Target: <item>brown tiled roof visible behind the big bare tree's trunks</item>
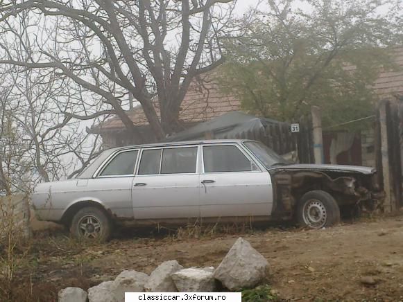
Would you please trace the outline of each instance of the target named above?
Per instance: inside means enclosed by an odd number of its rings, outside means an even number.
[[[157,101],[154,102],[157,115],[160,116]],[[225,94],[218,89],[218,83],[212,74],[206,74],[195,78],[180,105],[180,123],[195,123],[208,121],[216,116],[221,116],[227,112],[239,110],[241,102]],[[139,105],[127,112],[129,118],[135,125],[148,125],[148,121],[142,107]],[[119,117],[109,118],[107,121],[92,128],[94,132],[103,130],[117,130],[124,125]]]

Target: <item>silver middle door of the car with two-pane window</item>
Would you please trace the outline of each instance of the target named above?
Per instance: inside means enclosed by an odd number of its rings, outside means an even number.
[[[132,186],[135,219],[199,216],[198,145],[142,150]]]

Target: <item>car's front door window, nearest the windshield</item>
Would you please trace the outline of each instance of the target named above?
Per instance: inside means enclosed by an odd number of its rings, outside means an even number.
[[[205,172],[247,172],[256,166],[235,145],[203,146]]]

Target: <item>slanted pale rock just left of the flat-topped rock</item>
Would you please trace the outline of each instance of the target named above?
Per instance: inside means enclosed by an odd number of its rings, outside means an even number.
[[[151,273],[146,285],[144,285],[144,290],[146,292],[178,292],[171,274],[178,272],[180,269],[183,269],[183,267],[176,260],[161,263]]]

